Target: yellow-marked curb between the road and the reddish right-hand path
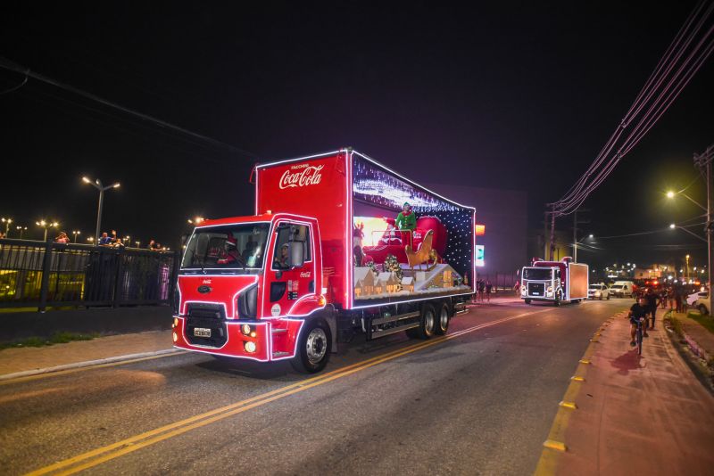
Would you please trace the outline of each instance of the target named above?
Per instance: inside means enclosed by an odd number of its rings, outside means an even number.
[[[570,377],[570,384],[565,390],[563,399],[558,404],[558,413],[552,421],[551,431],[548,432],[548,438],[543,443],[541,457],[538,459],[538,464],[535,466],[535,476],[545,476],[555,474],[560,462],[560,455],[568,451],[568,445],[565,441],[565,432],[568,429],[570,415],[577,411],[577,395],[585,383],[587,377],[587,369],[592,365],[593,354],[595,353],[596,344],[600,341],[601,332],[610,325],[612,321],[618,317],[627,314],[627,311],[619,312],[610,316],[604,321],[594,332],[590,343],[585,349],[585,354],[580,357],[577,363],[575,374]]]

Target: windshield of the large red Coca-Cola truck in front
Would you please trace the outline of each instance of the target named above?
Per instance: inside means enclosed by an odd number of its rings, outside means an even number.
[[[206,226],[188,242],[182,268],[262,268],[270,224]]]

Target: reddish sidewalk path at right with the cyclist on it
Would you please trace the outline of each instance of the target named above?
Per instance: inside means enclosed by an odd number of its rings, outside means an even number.
[[[576,407],[559,411],[567,413],[560,419],[567,449],[544,449],[544,456],[559,454],[559,474],[712,473],[714,397],[657,321],[642,356],[629,345],[627,313],[595,335],[577,367],[576,376],[582,373],[585,380],[572,382],[564,398],[574,399]]]

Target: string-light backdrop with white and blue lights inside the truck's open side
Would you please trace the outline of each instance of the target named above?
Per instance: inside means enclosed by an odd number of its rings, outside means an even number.
[[[402,210],[408,201],[417,217],[437,217],[446,227],[448,239],[444,263],[460,275],[459,281],[473,269],[473,209],[460,207],[434,193],[411,185],[367,160],[353,155],[353,196],[382,209]]]

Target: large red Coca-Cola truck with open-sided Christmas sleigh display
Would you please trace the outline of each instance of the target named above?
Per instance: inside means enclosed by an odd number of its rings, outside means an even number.
[[[466,311],[473,208],[352,149],[258,165],[253,176],[253,216],[206,220],[187,241],[176,347],[319,372],[356,333],[428,339]],[[414,229],[394,228],[400,211],[415,213]]]

